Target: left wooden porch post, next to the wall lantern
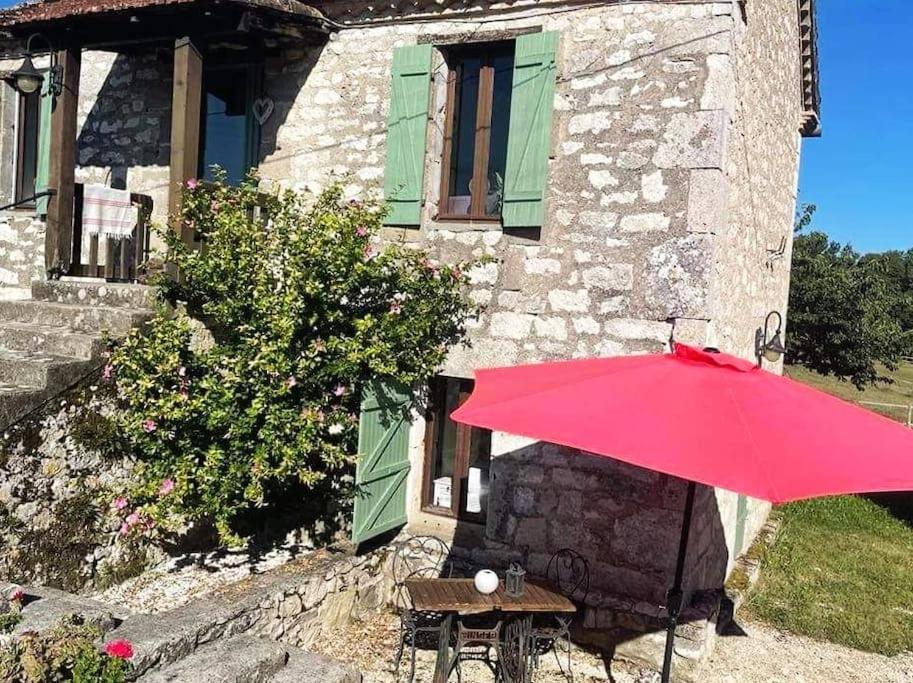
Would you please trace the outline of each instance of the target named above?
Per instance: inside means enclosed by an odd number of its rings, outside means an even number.
[[[66,275],[72,265],[80,59],[79,48],[57,52],[57,63],[63,67],[63,92],[55,98],[51,112],[48,187],[56,192],[48,200],[44,252],[45,268],[50,277]]]

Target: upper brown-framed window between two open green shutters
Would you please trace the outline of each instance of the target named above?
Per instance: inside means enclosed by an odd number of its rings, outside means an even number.
[[[507,166],[514,44],[454,49],[447,62],[438,217],[498,219]]]

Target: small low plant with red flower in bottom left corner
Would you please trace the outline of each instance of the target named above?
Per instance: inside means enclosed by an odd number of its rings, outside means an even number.
[[[45,683],[123,683],[132,669],[133,647],[127,641],[117,652],[99,652],[101,630],[78,617],[62,620],[41,633],[28,632],[0,649],[0,681]]]

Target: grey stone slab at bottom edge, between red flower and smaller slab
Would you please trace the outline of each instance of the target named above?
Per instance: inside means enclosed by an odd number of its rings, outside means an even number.
[[[198,648],[184,659],[140,677],[140,683],[262,683],[283,667],[287,649],[253,636],[234,636]],[[299,678],[323,681],[323,678]]]

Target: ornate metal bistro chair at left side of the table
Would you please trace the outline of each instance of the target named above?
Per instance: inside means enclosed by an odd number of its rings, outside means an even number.
[[[415,680],[415,650],[422,646],[437,649],[444,620],[442,612],[424,612],[412,607],[408,579],[450,577],[453,564],[450,547],[436,536],[413,536],[403,542],[393,556],[393,582],[396,604],[400,608],[399,645],[394,661],[394,676],[399,680],[399,665],[409,645],[409,682]]]

